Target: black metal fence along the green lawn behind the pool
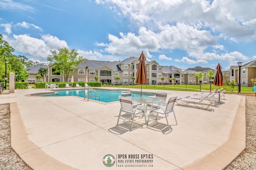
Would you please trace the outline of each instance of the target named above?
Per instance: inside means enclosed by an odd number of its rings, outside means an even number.
[[[120,85],[108,85],[112,87],[120,87]],[[226,94],[240,94],[256,96],[256,93],[252,89],[256,84],[226,84],[223,86],[215,86],[213,84],[147,84],[142,85],[143,89],[154,90],[177,90],[177,91],[191,91],[191,92],[212,92],[213,90],[221,89],[225,90]],[[140,88],[140,85],[123,85],[122,88]]]

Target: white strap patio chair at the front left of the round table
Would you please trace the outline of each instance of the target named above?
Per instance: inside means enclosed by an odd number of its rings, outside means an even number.
[[[121,104],[121,108],[120,108],[120,111],[119,111],[119,115],[118,115],[116,125],[118,125],[119,118],[120,118],[120,115],[121,115],[122,112],[131,114],[131,116],[132,116],[132,125],[131,125],[130,131],[132,131],[134,116],[138,113],[142,113],[143,111],[138,109],[140,106],[137,106],[137,107],[134,108],[132,100],[129,97],[119,96],[119,102]]]

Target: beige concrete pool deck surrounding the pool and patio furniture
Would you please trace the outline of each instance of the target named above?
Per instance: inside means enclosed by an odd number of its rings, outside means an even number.
[[[157,91],[165,90],[143,89]],[[178,125],[169,115],[170,131],[165,119],[150,119],[147,126],[144,117],[136,117],[129,131],[123,119],[116,127],[119,102],[27,96],[41,92],[46,91],[25,89],[0,95],[0,104],[10,103],[11,145],[34,170],[221,170],[246,147],[244,96],[226,94],[224,104],[211,106],[214,111],[175,105]],[[168,98],[196,94],[166,92]],[[111,167],[103,163],[108,154],[116,159]]]

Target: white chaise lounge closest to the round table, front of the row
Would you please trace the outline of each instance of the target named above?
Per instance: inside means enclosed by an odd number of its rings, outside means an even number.
[[[187,96],[186,98],[182,99],[177,99],[177,104],[178,105],[189,105],[189,104],[194,104],[195,106],[198,107],[198,105],[200,106],[207,106],[206,108],[209,108],[210,106],[212,106],[212,104],[214,104],[214,100],[212,99],[212,97],[215,95],[216,93],[212,93],[212,94],[208,94],[207,96],[203,96],[201,98],[196,98],[196,97],[190,97]],[[179,103],[178,101],[180,101],[181,103]]]

